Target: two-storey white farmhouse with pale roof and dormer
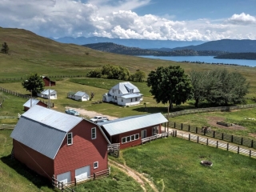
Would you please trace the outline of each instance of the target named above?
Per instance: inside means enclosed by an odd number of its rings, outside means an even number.
[[[119,106],[132,106],[143,100],[137,86],[130,82],[119,82],[108,93],[103,94],[103,102],[116,102]]]

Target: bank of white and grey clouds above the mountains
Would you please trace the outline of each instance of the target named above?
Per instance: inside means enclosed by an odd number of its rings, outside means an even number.
[[[101,36],[170,40],[256,39],[256,18],[233,14],[222,20],[174,21],[174,17],[146,14],[134,9],[150,0],[1,0],[2,27],[31,30],[46,37]],[[171,13],[170,13],[171,14]]]

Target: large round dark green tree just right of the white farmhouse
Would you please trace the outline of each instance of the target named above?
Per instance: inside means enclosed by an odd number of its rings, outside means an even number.
[[[156,102],[169,102],[170,109],[173,103],[180,105],[186,102],[192,90],[190,79],[180,66],[160,66],[152,70],[147,78],[147,86],[150,86],[150,93]]]

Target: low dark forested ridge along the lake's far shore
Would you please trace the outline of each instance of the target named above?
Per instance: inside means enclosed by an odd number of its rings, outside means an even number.
[[[140,49],[138,47],[129,47],[115,44],[113,42],[98,42],[83,45],[94,50],[101,50],[114,54],[128,54],[128,55],[154,55],[154,56],[215,56],[220,54],[227,54],[225,51],[218,50],[150,50]]]

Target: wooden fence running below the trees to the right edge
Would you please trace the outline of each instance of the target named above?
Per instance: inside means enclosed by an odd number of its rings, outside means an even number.
[[[172,112],[169,114],[170,118],[174,118],[180,115],[185,114],[198,114],[198,113],[208,113],[214,111],[231,111],[231,110],[241,110],[241,109],[249,109],[256,107],[256,104],[248,104],[248,105],[238,105],[238,106],[217,106],[217,107],[209,107],[209,108],[198,108],[198,109],[191,109],[191,110],[181,110]],[[167,117],[167,114],[166,114]]]

